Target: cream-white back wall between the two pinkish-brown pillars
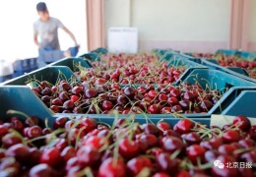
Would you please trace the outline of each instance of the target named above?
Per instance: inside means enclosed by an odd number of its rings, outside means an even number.
[[[105,0],[105,12],[106,29],[139,29],[141,49],[212,51],[228,39],[230,0]]]

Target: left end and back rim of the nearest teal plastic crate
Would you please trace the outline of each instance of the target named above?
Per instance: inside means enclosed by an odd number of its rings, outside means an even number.
[[[36,116],[41,119],[41,122],[44,122],[45,119],[48,119],[48,125],[51,127],[53,125],[54,120],[57,117],[63,116],[81,116],[81,114],[54,114],[51,112],[41,101],[40,99],[32,92],[28,87],[22,86],[5,86],[0,87],[0,117],[7,118],[6,112],[10,109],[21,111],[26,113],[29,116]],[[103,115],[103,114],[90,114],[84,115],[95,118],[97,122],[106,123],[111,125],[114,121],[114,115]],[[130,115],[120,115],[119,118],[127,118]],[[174,117],[165,117],[163,120],[173,126],[179,118]],[[196,122],[201,122],[203,124],[209,125],[210,118],[193,118],[192,120]],[[7,121],[7,120],[4,120]],[[155,115],[149,115],[146,119],[142,115],[136,115],[135,122],[139,122],[141,124],[147,122],[158,123],[160,121],[160,117],[156,117]]]

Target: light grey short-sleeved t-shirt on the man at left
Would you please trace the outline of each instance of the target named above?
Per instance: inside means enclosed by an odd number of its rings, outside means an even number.
[[[58,28],[63,28],[63,24],[55,18],[50,17],[47,22],[37,20],[33,23],[33,33],[39,35],[41,48],[60,49]]]

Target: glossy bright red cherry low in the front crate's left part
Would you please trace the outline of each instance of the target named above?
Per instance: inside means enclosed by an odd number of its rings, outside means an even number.
[[[40,156],[40,163],[46,163],[52,167],[58,166],[62,161],[57,148],[45,149]]]

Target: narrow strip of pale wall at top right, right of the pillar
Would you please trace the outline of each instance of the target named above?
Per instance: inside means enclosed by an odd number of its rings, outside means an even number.
[[[256,1],[249,1],[249,41],[256,42]]]

